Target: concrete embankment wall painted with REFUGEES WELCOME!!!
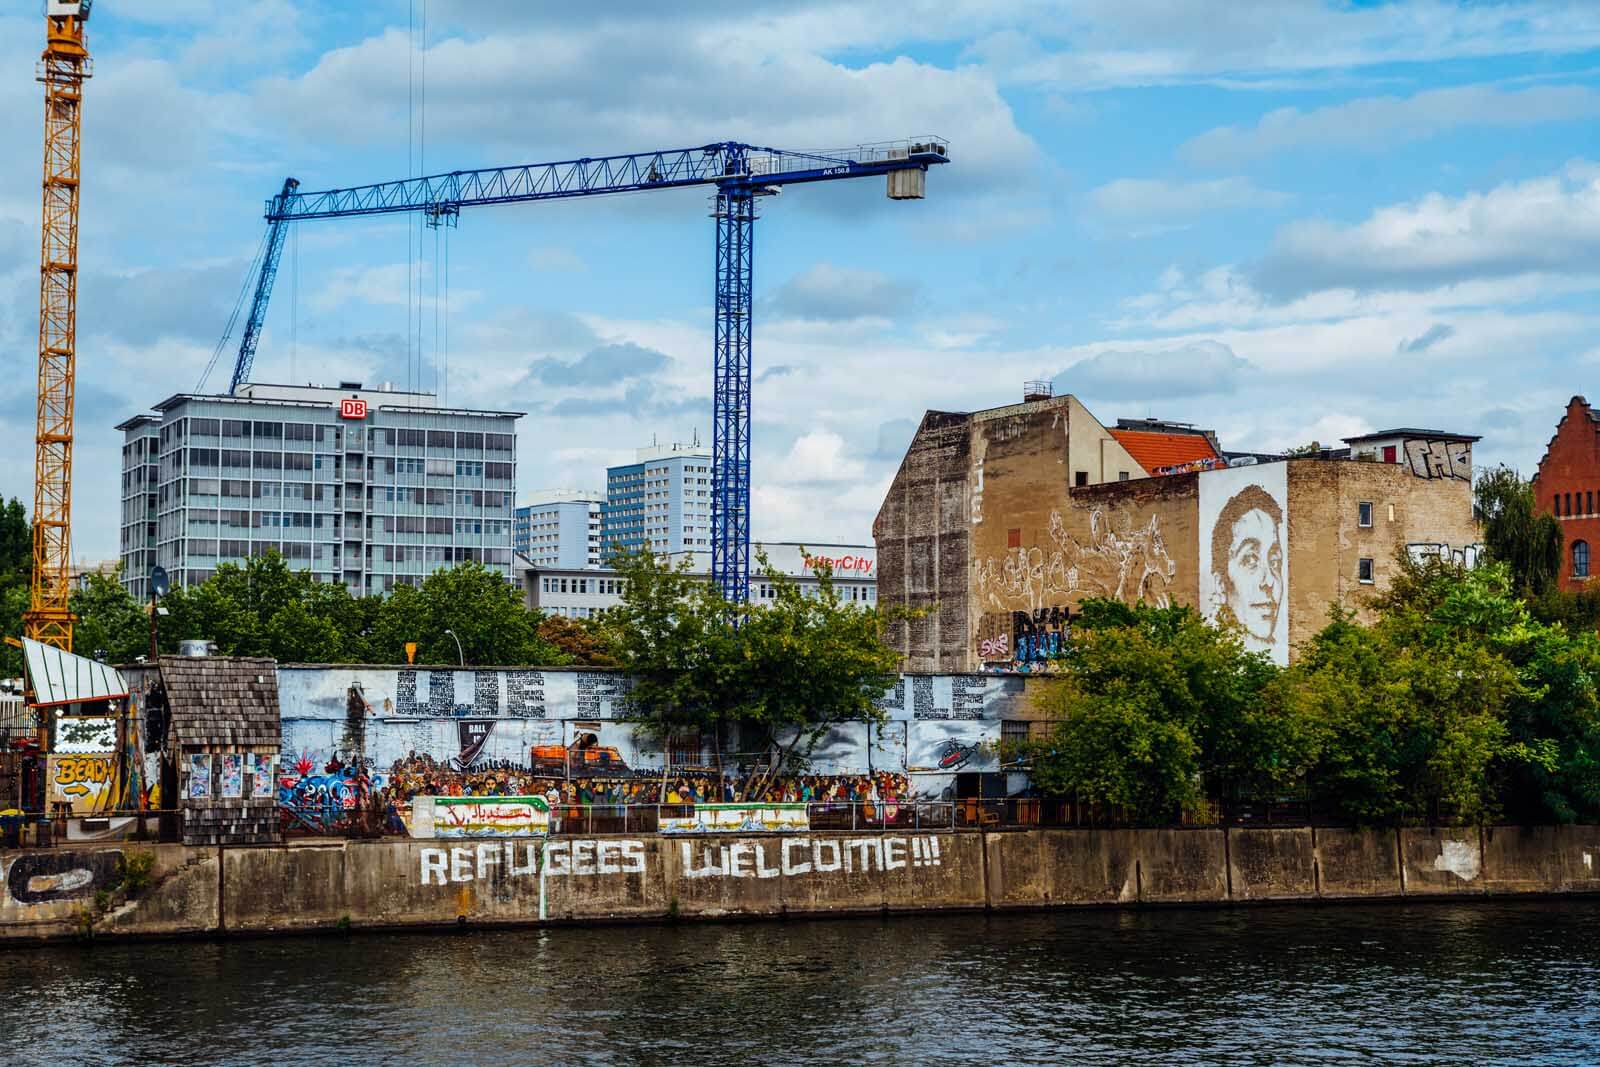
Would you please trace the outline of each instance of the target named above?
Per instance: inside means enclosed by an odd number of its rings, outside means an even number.
[[[0,939],[1600,893],[1597,862],[1600,827],[125,843],[0,853]]]

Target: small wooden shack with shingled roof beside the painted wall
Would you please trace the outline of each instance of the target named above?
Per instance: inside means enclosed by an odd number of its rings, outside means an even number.
[[[245,656],[162,656],[184,845],[278,840],[282,739],[277,662]]]

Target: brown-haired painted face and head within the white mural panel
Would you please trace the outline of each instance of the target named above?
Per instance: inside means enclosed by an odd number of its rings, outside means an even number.
[[[1237,622],[1251,651],[1274,651],[1283,614],[1283,509],[1259,485],[1229,498],[1211,526],[1218,622]]]

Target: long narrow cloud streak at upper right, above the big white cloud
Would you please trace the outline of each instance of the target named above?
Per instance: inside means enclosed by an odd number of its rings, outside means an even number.
[[[1299,110],[1280,107],[1254,126],[1218,126],[1178,150],[1187,160],[1234,166],[1294,149],[1378,150],[1462,126],[1526,126],[1600,115],[1600,91],[1584,85],[1504,90],[1464,85],[1414,96],[1368,96]]]

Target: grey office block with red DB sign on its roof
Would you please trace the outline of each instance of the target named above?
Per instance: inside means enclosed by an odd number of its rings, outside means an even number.
[[[277,549],[352,593],[475,560],[512,577],[517,411],[387,387],[179,394],[123,430],[123,584],[194,585]]]

